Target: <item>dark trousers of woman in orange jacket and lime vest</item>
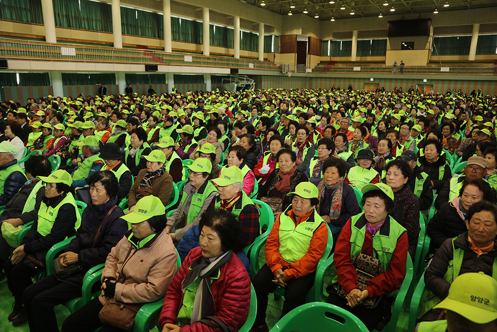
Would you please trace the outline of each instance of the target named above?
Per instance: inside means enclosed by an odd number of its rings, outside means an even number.
[[[301,278],[291,279],[285,286],[285,302],[281,317],[288,314],[293,309],[306,303],[307,292],[314,285],[316,272]],[[262,326],[266,323],[267,296],[274,292],[276,284],[272,282],[274,274],[271,269],[264,264],[252,281],[255,295],[257,296],[257,315],[255,316],[255,326]]]

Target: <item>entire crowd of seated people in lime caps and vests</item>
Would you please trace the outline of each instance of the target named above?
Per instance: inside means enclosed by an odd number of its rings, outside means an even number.
[[[281,317],[304,304],[325,255],[327,302],[370,331],[388,324],[410,260],[430,260],[419,322],[439,318],[459,275],[497,279],[490,96],[174,91],[48,96],[0,113],[0,279],[14,327],[58,331],[54,308],[81,297],[99,264],[99,296],[63,331],[122,331],[99,316],[162,301],[162,331],[236,332],[256,301],[249,328],[266,332],[269,293],[284,291]],[[356,258],[374,251],[383,272],[359,289]]]

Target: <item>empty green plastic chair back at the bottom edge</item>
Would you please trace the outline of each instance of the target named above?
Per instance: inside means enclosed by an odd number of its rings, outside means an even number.
[[[335,316],[341,320],[336,320]],[[311,302],[286,314],[270,330],[270,332],[308,331],[368,332],[368,329],[357,317],[345,309],[329,303]]]

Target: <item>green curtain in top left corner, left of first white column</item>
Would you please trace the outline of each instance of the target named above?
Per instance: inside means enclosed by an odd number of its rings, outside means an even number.
[[[41,0],[1,0],[0,19],[43,24]]]

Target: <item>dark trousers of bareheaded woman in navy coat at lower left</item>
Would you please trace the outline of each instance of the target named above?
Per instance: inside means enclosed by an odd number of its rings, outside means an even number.
[[[81,286],[63,283],[48,275],[26,288],[22,300],[28,316],[30,332],[58,332],[54,307],[81,296]]]

